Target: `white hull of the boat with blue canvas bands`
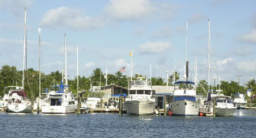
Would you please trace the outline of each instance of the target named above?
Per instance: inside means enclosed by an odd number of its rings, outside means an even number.
[[[198,116],[199,103],[189,100],[174,101],[171,103],[171,111],[176,116]]]

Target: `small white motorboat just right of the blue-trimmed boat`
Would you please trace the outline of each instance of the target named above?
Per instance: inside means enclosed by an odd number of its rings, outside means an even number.
[[[235,107],[232,104],[231,97],[225,95],[214,95],[210,100],[210,112],[213,113],[213,100],[215,99],[216,116],[233,116]]]

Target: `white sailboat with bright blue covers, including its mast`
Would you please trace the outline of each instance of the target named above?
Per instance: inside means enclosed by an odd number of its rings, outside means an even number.
[[[46,98],[42,103],[42,113],[74,113],[77,103],[74,94],[68,90],[67,85],[67,57],[66,57],[66,34],[65,34],[65,85],[63,84],[63,72],[61,85],[55,85],[59,90],[46,91]]]

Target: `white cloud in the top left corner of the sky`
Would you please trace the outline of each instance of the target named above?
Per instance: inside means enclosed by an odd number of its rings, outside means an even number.
[[[0,9],[7,9],[14,14],[14,16],[21,15],[21,9],[32,5],[33,0],[0,0]],[[24,12],[22,13],[24,14]]]

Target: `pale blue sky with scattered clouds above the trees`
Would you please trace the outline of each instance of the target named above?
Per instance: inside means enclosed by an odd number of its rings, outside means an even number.
[[[36,1],[0,0],[0,66],[22,70],[24,9],[27,7],[27,66],[39,70],[41,32],[42,72],[65,68],[64,34],[67,34],[67,74],[81,76],[101,68],[114,74],[126,66],[130,75],[166,78],[174,70],[189,79],[208,79],[208,19],[210,20],[210,84],[214,80],[244,85],[256,78],[256,1]],[[186,30],[186,22],[188,29]]]

